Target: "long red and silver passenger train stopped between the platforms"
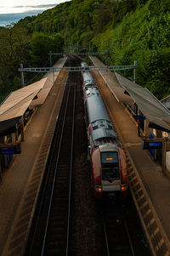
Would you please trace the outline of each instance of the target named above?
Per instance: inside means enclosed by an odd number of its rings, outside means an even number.
[[[94,196],[127,196],[126,156],[105,104],[85,62],[83,67],[83,96],[88,128],[88,153],[91,159]]]

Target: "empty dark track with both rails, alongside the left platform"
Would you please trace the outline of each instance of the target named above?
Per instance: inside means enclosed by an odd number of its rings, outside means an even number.
[[[76,83],[69,75],[26,255],[67,255]],[[36,227],[36,228],[35,228]]]

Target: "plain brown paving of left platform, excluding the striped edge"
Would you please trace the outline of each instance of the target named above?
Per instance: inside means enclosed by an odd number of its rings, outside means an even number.
[[[66,58],[60,59],[57,65],[63,66],[65,60]],[[45,103],[37,109],[31,118],[31,122],[26,128],[25,141],[21,144],[22,152],[15,156],[11,167],[3,174],[3,181],[0,184],[0,255],[2,255],[4,244],[7,242],[27,181],[31,176],[31,169],[53,113],[54,103],[56,100],[59,102],[62,100],[62,94],[59,94],[60,88],[62,88],[62,84],[51,89]]]

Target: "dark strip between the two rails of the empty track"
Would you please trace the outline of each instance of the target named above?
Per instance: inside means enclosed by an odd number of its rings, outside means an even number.
[[[75,84],[69,84],[42,255],[67,255],[69,247]],[[73,117],[73,118],[72,118]],[[56,151],[56,150],[55,150]]]

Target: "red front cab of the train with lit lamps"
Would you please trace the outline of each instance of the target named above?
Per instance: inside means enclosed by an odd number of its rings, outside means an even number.
[[[96,198],[127,196],[127,166],[121,148],[106,150],[99,146],[92,151],[92,180]]]

